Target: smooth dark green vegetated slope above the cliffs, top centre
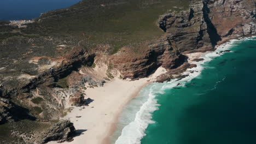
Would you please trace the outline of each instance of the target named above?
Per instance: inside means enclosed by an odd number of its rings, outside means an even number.
[[[159,15],[188,7],[187,0],[86,0],[68,9],[43,14],[40,22],[28,25],[22,33],[72,37],[88,50],[97,44],[108,44],[107,51],[116,53],[123,46],[134,47],[160,37],[164,32],[156,25]]]

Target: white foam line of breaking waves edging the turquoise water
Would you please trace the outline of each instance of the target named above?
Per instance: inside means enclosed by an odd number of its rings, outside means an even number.
[[[229,42],[219,45],[217,49],[213,52],[208,52],[203,54],[202,57],[204,60],[201,62],[193,62],[193,64],[196,64],[197,67],[187,69],[183,73],[183,75],[188,75],[187,77],[184,77],[182,80],[173,79],[170,82],[166,83],[152,83],[149,87],[148,93],[143,93],[138,96],[136,99],[141,99],[141,97],[144,97],[145,102],[141,104],[139,109],[136,112],[135,117],[132,119],[128,119],[127,121],[130,121],[126,124],[126,126],[121,130],[121,135],[118,137],[117,141],[115,141],[115,144],[139,144],[141,143],[141,139],[146,134],[144,131],[148,127],[148,124],[154,123],[152,121],[152,113],[156,110],[158,110],[159,104],[157,103],[156,96],[158,94],[164,93],[165,89],[171,89],[173,87],[177,87],[178,83],[181,84],[178,87],[185,86],[185,83],[188,81],[191,81],[192,79],[199,78],[201,71],[205,68],[205,63],[210,62],[213,58],[223,55],[225,50],[229,50],[232,46],[236,45],[236,42],[241,40],[249,40],[255,37],[251,38],[241,38],[239,40],[230,40]],[[214,67],[212,67],[214,68]],[[194,71],[194,73],[191,73],[191,71]],[[223,79],[223,81],[225,78]],[[218,84],[218,83],[217,83]],[[145,88],[144,88],[145,91]],[[147,90],[146,90],[147,91]]]

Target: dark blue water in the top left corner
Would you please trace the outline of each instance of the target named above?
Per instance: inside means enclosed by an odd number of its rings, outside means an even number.
[[[1,0],[0,20],[22,20],[39,17],[49,10],[67,8],[81,0]]]

